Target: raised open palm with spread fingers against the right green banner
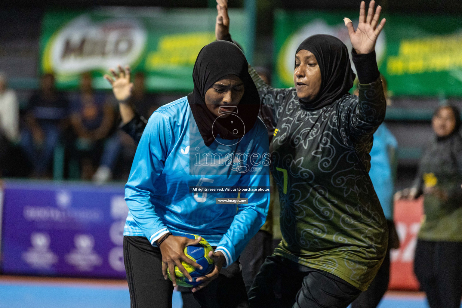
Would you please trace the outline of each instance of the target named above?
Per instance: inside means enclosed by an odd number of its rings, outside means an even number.
[[[350,36],[351,44],[358,54],[369,54],[374,51],[377,37],[380,34],[380,31],[382,31],[386,21],[385,18],[382,18],[382,21],[380,24],[378,24],[382,7],[377,6],[374,14],[374,0],[369,3],[367,17],[365,14],[365,6],[365,2],[361,1],[361,6],[359,9],[359,24],[356,31],[353,28],[353,22],[351,19],[346,17],[343,18],[343,21],[348,28],[348,35]]]

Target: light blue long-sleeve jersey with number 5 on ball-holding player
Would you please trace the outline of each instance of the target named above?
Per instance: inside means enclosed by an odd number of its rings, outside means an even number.
[[[241,193],[248,204],[216,204],[215,198],[236,198],[237,193],[190,193],[189,187],[269,187],[263,122],[257,119],[237,141],[218,137],[207,147],[187,97],[157,109],[125,186],[129,213],[124,236],[146,236],[155,246],[169,231],[197,234],[223,252],[226,266],[236,261],[266,220],[269,193]]]

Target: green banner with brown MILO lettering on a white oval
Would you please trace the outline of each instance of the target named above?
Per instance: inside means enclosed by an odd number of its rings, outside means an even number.
[[[233,38],[245,51],[244,12],[229,14]],[[75,89],[80,74],[92,72],[94,87],[107,89],[102,76],[109,67],[130,65],[146,74],[149,91],[191,91],[197,54],[215,40],[215,18],[215,9],[50,11],[42,23],[41,72],[54,72],[60,89]]]

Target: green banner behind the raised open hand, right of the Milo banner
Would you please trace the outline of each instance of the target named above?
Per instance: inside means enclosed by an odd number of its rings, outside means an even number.
[[[308,36],[330,34],[351,50],[344,17],[352,19],[355,27],[358,24],[358,12],[276,11],[275,86],[293,86],[295,51]],[[462,96],[461,18],[395,14],[383,17],[387,23],[377,40],[377,63],[391,94]]]

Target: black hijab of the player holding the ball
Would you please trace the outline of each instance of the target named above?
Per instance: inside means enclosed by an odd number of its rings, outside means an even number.
[[[255,124],[260,109],[260,97],[249,74],[249,66],[242,51],[233,43],[215,41],[199,52],[193,69],[194,90],[188,94],[188,102],[204,143],[213,143],[214,133],[222,139],[237,139],[249,132]],[[232,133],[229,121],[213,115],[205,104],[205,93],[217,81],[233,74],[244,83],[244,94],[237,106],[237,116],[243,121],[244,131]],[[216,120],[216,121],[215,121]]]

